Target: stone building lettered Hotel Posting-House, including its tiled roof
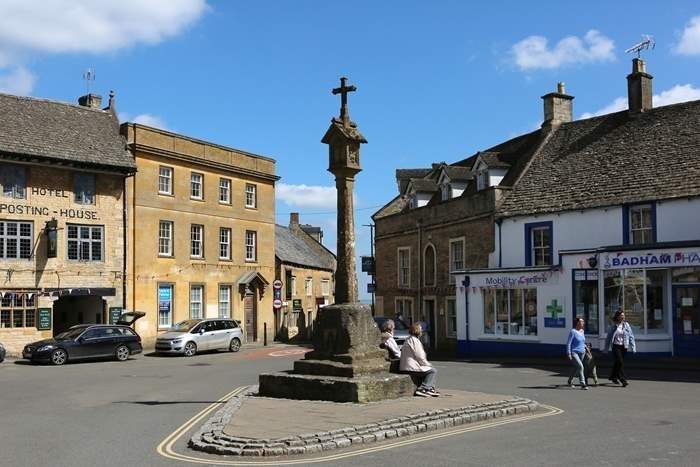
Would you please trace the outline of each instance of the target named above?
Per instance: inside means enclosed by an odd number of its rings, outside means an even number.
[[[0,341],[24,344],[124,307],[127,177],[114,99],[0,94]]]

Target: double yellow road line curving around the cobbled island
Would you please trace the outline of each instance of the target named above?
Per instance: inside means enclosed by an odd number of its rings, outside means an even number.
[[[431,434],[425,434],[425,435],[419,435],[419,436],[412,436],[409,438],[405,438],[399,441],[393,441],[391,443],[381,443],[378,444],[377,446],[369,447],[369,448],[364,448],[364,449],[357,449],[349,452],[341,452],[338,454],[331,454],[327,456],[322,456],[322,457],[315,457],[315,458],[304,458],[304,459],[291,459],[291,460],[269,460],[269,461],[239,461],[239,460],[225,460],[225,459],[215,459],[215,458],[203,458],[203,457],[194,457],[186,454],[181,454],[178,452],[175,452],[173,449],[173,446],[175,443],[178,441],[178,439],[185,434],[187,431],[189,431],[197,422],[199,422],[202,418],[204,418],[207,414],[212,412],[214,409],[216,409],[220,404],[223,402],[226,402],[229,400],[231,397],[236,396],[240,392],[245,389],[244,387],[236,388],[232,392],[228,393],[221,399],[219,399],[217,402],[213,403],[209,407],[205,408],[201,412],[199,412],[197,415],[192,417],[190,420],[185,422],[180,428],[175,430],[172,434],[170,434],[167,438],[165,438],[159,445],[156,451],[158,454],[167,457],[168,459],[173,459],[173,460],[179,460],[183,462],[190,462],[193,464],[207,464],[207,465],[295,465],[295,464],[316,464],[320,462],[328,462],[328,461],[333,461],[333,460],[339,460],[339,459],[345,459],[348,457],[355,457],[355,456],[361,456],[364,454],[370,454],[374,452],[379,452],[379,451],[386,451],[388,449],[394,449],[402,446],[409,446],[412,444],[418,444],[422,443],[425,441],[431,441],[434,439],[440,439],[440,438],[445,438],[448,436],[455,436],[463,433],[468,433],[470,431],[478,431],[478,430],[483,430],[486,428],[493,428],[497,426],[502,426],[502,425],[508,425],[510,423],[516,423],[516,422],[521,422],[525,420],[534,420],[537,418],[543,418],[543,417],[549,417],[552,415],[559,415],[564,413],[563,410],[557,408],[557,407],[552,407],[550,405],[543,405],[541,404],[540,407],[544,408],[546,412],[542,413],[537,413],[534,415],[523,415],[519,417],[508,417],[506,419],[502,420],[494,420],[492,422],[487,422],[487,423],[481,423],[478,425],[474,426],[466,426],[466,427],[461,427],[461,428],[454,428],[451,430],[444,430],[436,433],[431,433]]]

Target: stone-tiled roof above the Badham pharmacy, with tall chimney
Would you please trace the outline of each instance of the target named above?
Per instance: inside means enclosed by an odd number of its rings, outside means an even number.
[[[700,196],[700,101],[564,123],[497,215]]]

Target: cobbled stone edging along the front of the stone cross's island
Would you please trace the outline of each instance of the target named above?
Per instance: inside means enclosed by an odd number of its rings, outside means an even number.
[[[242,394],[230,399],[223,408],[218,410],[213,417],[192,435],[188,443],[189,447],[210,454],[229,456],[313,454],[452,428],[509,415],[532,413],[539,407],[539,404],[535,401],[514,397],[512,399],[454,409],[430,410],[386,419],[376,423],[355,425],[318,433],[303,433],[283,438],[244,438],[224,433],[224,428],[238,412],[244,399],[256,395],[257,390],[257,386],[251,386]],[[318,403],[318,401],[314,402]]]

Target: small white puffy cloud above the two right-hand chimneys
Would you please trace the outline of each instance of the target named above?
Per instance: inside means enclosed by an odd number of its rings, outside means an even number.
[[[583,36],[567,36],[553,48],[542,36],[526,37],[511,47],[515,63],[521,70],[552,69],[566,65],[611,61],[615,59],[615,43],[599,31],[591,29]]]

